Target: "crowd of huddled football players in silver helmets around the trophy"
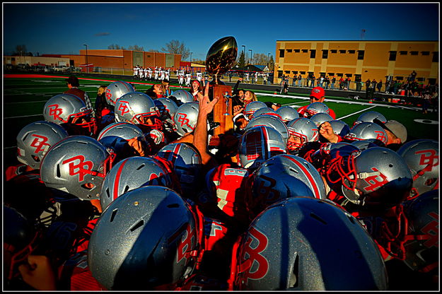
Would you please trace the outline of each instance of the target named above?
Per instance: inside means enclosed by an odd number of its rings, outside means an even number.
[[[438,288],[437,141],[379,112],[349,126],[320,87],[296,110],[238,81],[213,143],[202,83],[46,102],[6,170],[6,290]]]

